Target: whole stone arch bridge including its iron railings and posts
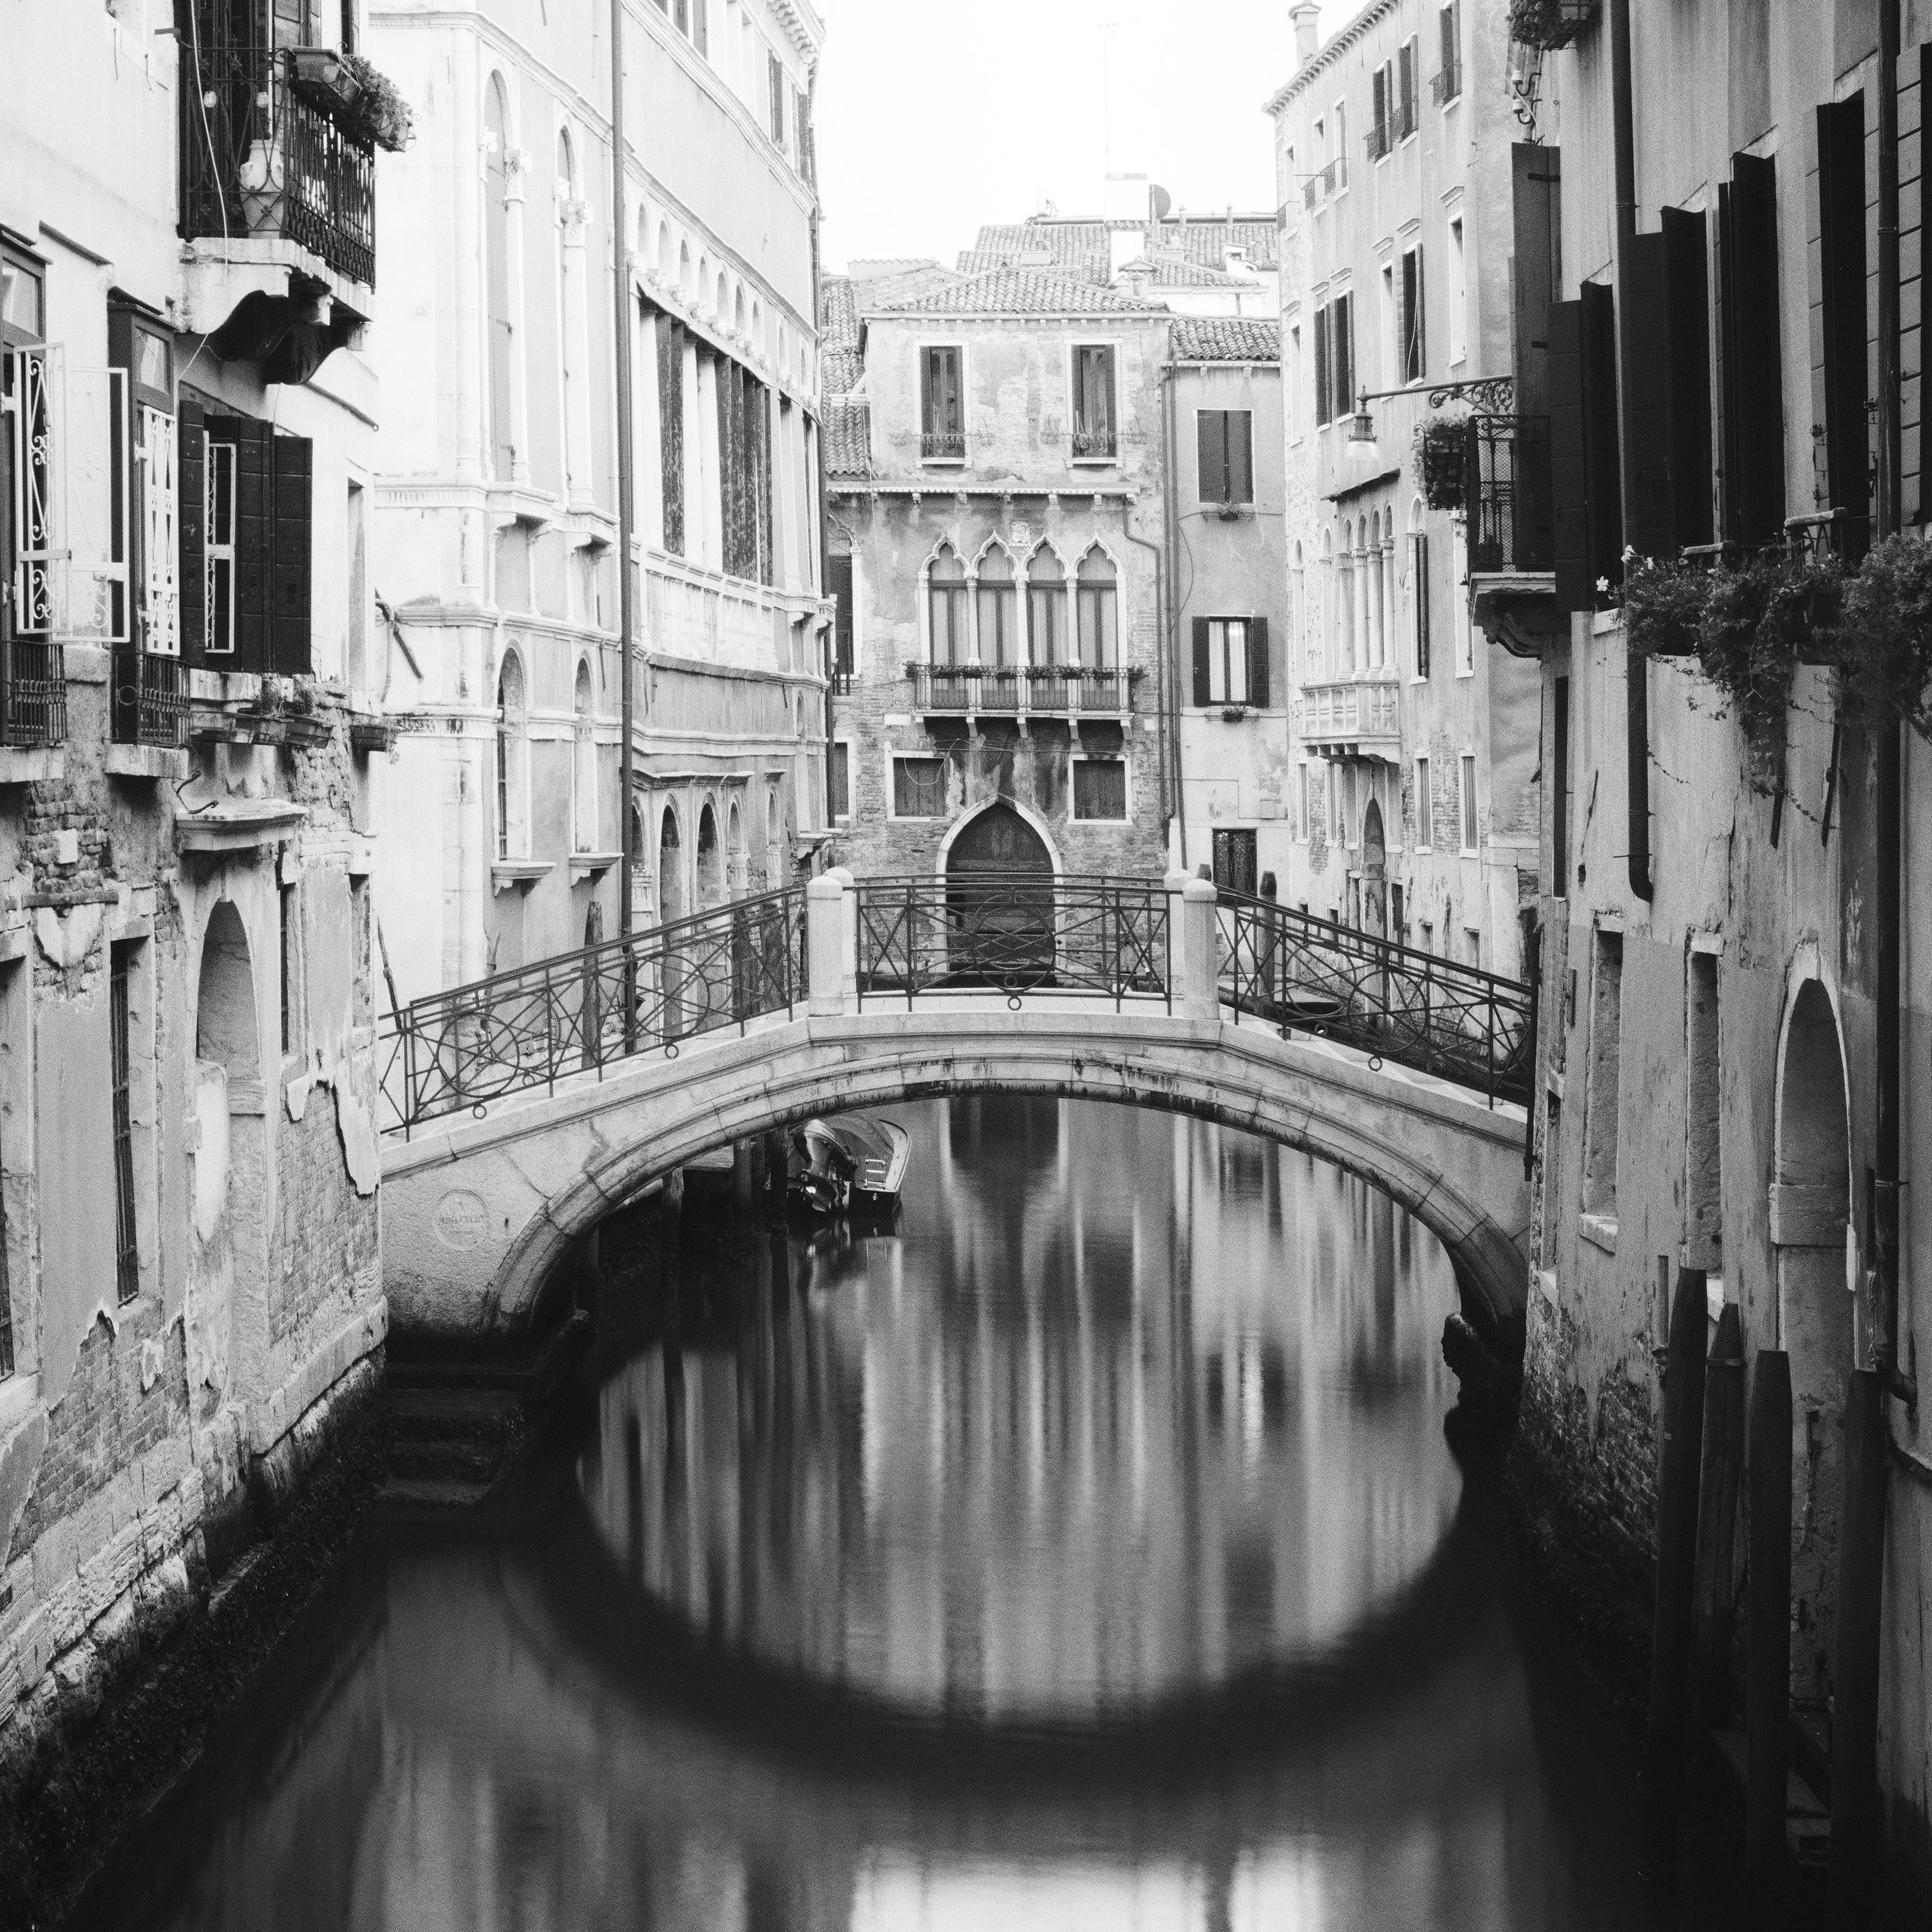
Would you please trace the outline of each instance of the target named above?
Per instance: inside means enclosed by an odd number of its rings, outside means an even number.
[[[386,1037],[402,1331],[514,1337],[572,1242],[686,1161],[974,1092],[1306,1150],[1432,1229],[1520,1350],[1528,989],[1198,879],[815,879],[417,1001]]]

